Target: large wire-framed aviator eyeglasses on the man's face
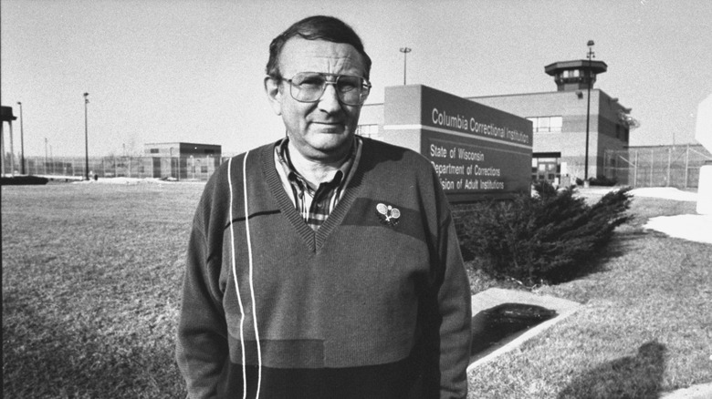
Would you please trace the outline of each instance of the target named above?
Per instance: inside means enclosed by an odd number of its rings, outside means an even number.
[[[371,92],[371,83],[363,77],[351,75],[300,72],[289,82],[292,98],[303,103],[315,103],[324,95],[327,85],[334,85],[339,101],[347,106],[360,106]]]

